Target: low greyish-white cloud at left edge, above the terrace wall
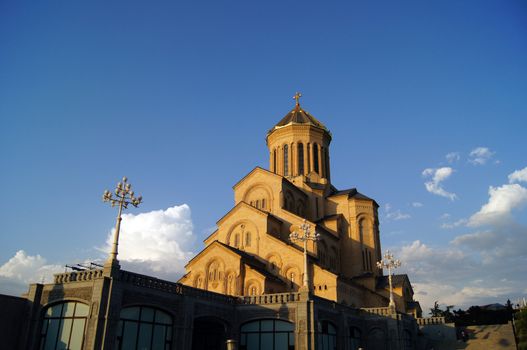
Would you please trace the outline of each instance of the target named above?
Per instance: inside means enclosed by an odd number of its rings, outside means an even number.
[[[29,283],[51,282],[53,274],[64,268],[56,264],[47,264],[40,255],[28,255],[19,250],[5,264],[0,266],[0,292],[21,294]]]

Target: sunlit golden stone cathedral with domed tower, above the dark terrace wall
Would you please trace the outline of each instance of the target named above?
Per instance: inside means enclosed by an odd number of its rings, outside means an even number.
[[[296,105],[267,132],[269,170],[254,168],[233,187],[234,207],[217,222],[205,248],[180,282],[229,295],[297,291],[310,274],[314,295],[338,303],[385,306],[389,295],[381,260],[378,204],[355,188],[331,184],[331,132]],[[320,235],[308,244],[291,232],[306,222]],[[398,310],[419,314],[406,275],[399,275]]]

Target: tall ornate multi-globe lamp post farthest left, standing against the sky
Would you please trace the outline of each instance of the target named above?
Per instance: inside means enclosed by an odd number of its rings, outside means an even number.
[[[128,208],[128,204],[132,204],[137,208],[137,206],[141,204],[143,197],[135,197],[134,191],[132,191],[132,185],[128,183],[128,179],[125,176],[123,177],[122,182],[119,182],[115,188],[115,197],[113,197],[113,193],[106,190],[102,195],[102,200],[103,202],[110,202],[112,207],[115,207],[116,205],[119,207],[117,223],[115,224],[115,233],[113,236],[112,251],[110,252],[110,256],[106,261],[107,265],[116,266],[119,264],[119,261],[117,260],[117,246],[119,245],[119,231],[121,229],[121,214],[123,212],[123,208]]]

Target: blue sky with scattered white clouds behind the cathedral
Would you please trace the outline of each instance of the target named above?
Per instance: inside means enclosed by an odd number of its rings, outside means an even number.
[[[418,299],[524,296],[526,38],[525,1],[3,1],[2,291],[104,258],[123,175],[165,226],[121,257],[177,278],[301,91]]]

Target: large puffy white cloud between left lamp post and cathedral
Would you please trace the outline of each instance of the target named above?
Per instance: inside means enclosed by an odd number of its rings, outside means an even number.
[[[195,235],[188,205],[147,213],[124,214],[119,235],[118,259],[123,268],[176,279],[194,255]],[[112,230],[105,251],[113,242]]]

